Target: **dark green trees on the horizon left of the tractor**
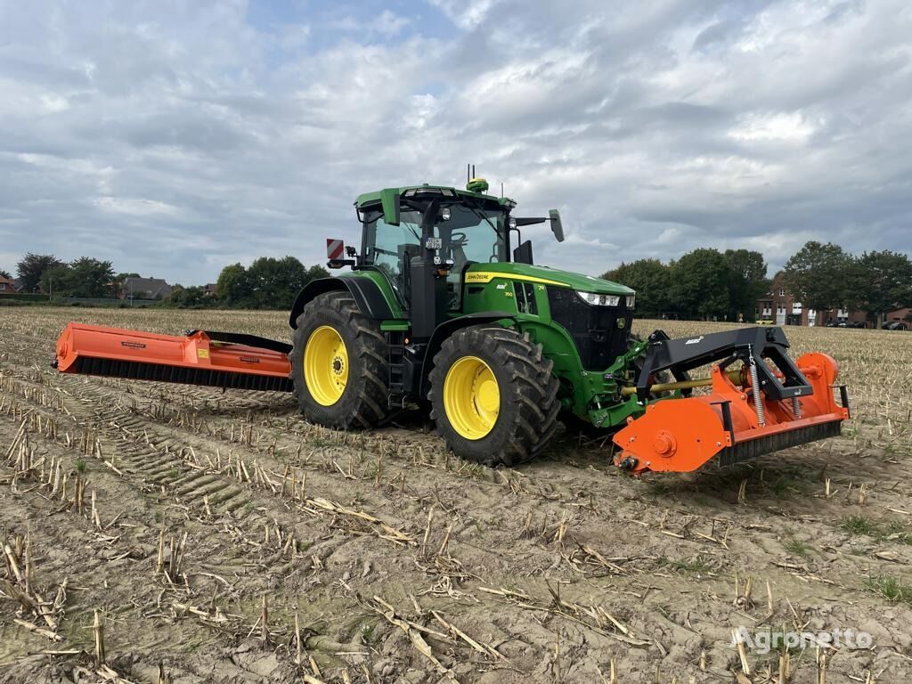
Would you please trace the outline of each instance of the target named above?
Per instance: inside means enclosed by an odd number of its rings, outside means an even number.
[[[28,253],[16,264],[22,292],[51,297],[124,298],[129,295],[127,278],[137,273],[116,273],[113,264],[88,256],[70,262],[53,254]],[[275,259],[261,256],[253,264],[225,266],[215,293],[203,285],[173,285],[161,306],[288,309],[295,296],[315,278],[328,276],[322,266],[307,267],[294,256]],[[5,271],[0,276],[11,278]]]

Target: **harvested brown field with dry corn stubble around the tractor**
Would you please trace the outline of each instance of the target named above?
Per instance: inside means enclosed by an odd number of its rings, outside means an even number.
[[[418,415],[345,434],[281,394],[62,376],[70,319],[288,337],[282,313],[0,309],[0,682],[912,679],[908,333],[787,328],[839,361],[844,436],[635,480],[609,439],[492,470]],[[872,641],[740,655],[738,627]]]

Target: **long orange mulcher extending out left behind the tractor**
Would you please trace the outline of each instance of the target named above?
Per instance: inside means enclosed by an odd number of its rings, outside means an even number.
[[[174,337],[70,323],[52,365],[61,373],[290,392],[289,351],[253,335],[193,330]]]

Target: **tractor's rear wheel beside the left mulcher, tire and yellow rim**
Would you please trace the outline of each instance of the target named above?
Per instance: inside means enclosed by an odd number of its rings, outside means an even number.
[[[288,358],[307,420],[350,430],[388,417],[386,340],[347,292],[317,295],[304,307]]]

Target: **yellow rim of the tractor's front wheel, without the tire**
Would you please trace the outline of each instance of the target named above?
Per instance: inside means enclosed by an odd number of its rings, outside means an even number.
[[[443,380],[443,409],[453,430],[467,440],[481,440],[501,410],[501,390],[491,367],[481,358],[462,357]]]

